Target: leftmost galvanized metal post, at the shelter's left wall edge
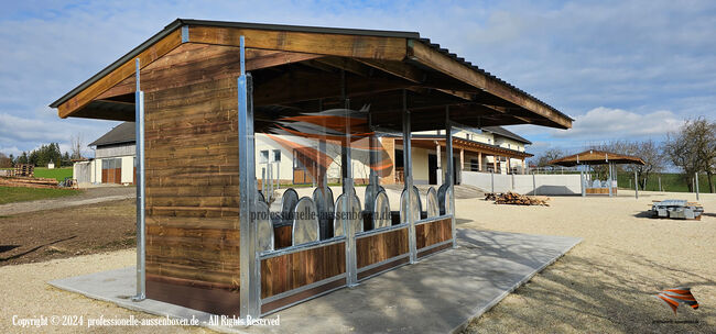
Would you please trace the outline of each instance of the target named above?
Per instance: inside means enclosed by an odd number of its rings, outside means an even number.
[[[140,63],[134,62],[137,90],[134,93],[134,141],[137,143],[137,296],[133,301],[147,298],[147,198],[144,192],[144,92],[140,87]]]

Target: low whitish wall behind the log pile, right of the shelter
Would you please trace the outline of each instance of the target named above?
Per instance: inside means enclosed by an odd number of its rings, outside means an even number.
[[[582,194],[578,174],[506,175],[465,170],[462,174],[463,185],[475,186],[490,192],[512,191],[522,194]]]

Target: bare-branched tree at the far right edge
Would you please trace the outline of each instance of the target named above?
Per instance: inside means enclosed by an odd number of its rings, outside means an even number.
[[[716,123],[704,118],[686,120],[675,133],[670,133],[664,153],[674,166],[684,172],[690,191],[693,191],[693,176],[705,171],[708,187],[714,192],[712,176],[716,160]]]

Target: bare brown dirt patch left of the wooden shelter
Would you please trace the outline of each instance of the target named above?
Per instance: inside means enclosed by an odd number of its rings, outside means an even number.
[[[135,245],[134,200],[0,216],[0,266]]]

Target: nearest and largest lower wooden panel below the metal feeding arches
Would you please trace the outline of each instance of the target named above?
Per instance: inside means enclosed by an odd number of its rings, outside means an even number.
[[[261,260],[261,298],[346,272],[345,247],[337,243]]]

